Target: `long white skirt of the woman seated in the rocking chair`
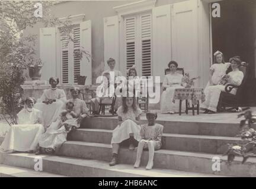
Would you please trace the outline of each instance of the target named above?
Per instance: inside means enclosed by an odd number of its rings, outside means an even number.
[[[217,112],[217,104],[219,103],[219,97],[222,91],[225,91],[225,86],[220,84],[207,87],[206,101],[201,104],[201,107]]]

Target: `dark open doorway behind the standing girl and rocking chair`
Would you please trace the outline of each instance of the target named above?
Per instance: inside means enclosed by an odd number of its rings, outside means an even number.
[[[241,56],[242,61],[249,63],[247,83],[250,89],[256,85],[256,1],[223,0],[217,3],[220,4],[220,18],[212,18],[212,52],[221,51],[225,62],[233,56]],[[252,93],[245,91],[245,104],[252,102]]]

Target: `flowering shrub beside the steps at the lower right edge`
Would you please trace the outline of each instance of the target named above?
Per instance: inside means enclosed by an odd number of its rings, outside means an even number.
[[[240,137],[242,141],[237,142],[237,144],[228,144],[228,151],[224,154],[228,155],[229,164],[231,164],[236,155],[243,157],[242,164],[249,157],[256,156],[256,131],[251,128],[251,124],[256,122],[256,119],[250,111],[238,115],[238,118],[241,116],[244,116],[245,119],[241,120],[240,126],[242,129],[236,136]],[[248,123],[246,124],[246,122]]]

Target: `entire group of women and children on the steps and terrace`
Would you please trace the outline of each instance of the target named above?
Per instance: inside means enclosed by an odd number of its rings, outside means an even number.
[[[205,110],[204,113],[215,113],[217,111],[217,103],[220,92],[225,90],[226,84],[240,85],[244,78],[241,66],[241,58],[236,56],[225,63],[223,54],[217,51],[214,54],[215,64],[210,67],[209,83],[204,90],[206,101],[201,105]],[[109,70],[104,71],[102,76],[107,78],[102,83],[102,87],[108,89],[110,87],[110,71],[114,72],[114,76],[121,76],[120,71],[114,70],[115,60],[110,58],[108,61]],[[226,74],[228,67],[232,67],[232,71]],[[161,95],[161,113],[175,113],[177,111],[177,103],[173,102],[174,92],[177,88],[183,88],[183,75],[177,73],[178,63],[170,61],[168,63],[170,73],[164,78],[162,86],[164,92]],[[132,77],[127,83],[128,87],[136,86],[137,71],[135,67],[127,70],[128,76]],[[24,102],[24,109],[18,113],[18,125],[10,127],[8,134],[0,146],[2,152],[35,152],[36,154],[53,154],[59,150],[69,132],[79,128],[81,120],[87,116],[98,114],[100,102],[110,99],[109,97],[96,97],[91,99],[92,115],[89,115],[87,105],[84,100],[78,98],[79,89],[74,87],[71,89],[72,98],[66,100],[66,94],[62,89],[57,89],[59,79],[51,77],[49,79],[51,88],[44,90],[40,99],[27,97]],[[116,89],[115,89],[116,90]],[[110,92],[111,90],[105,90]],[[130,90],[129,90],[130,92]],[[129,149],[135,149],[137,146],[135,168],[140,165],[143,149],[148,149],[149,160],[146,170],[153,167],[153,156],[157,149],[161,148],[161,137],[164,126],[155,122],[157,114],[149,111],[146,113],[147,124],[140,124],[140,115],[142,110],[137,105],[137,100],[133,90],[132,97],[130,95],[119,97],[115,105],[110,109],[118,115],[118,125],[113,130],[111,139],[112,159],[110,166],[118,163],[119,147],[122,144],[128,144]],[[231,90],[232,94],[236,93],[236,89]]]

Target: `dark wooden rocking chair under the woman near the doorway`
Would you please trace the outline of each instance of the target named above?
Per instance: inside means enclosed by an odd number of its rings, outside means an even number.
[[[243,92],[246,87],[247,77],[248,77],[248,64],[244,64],[239,67],[239,70],[244,73],[244,79],[242,80],[241,85],[236,86],[235,84],[227,84],[225,86],[225,92],[220,93],[219,103],[217,105],[217,112],[230,111],[232,112],[236,109],[236,112],[239,112],[239,107],[242,106]],[[230,69],[227,71],[229,72]],[[236,94],[231,94],[232,89],[236,88]],[[226,109],[228,107],[228,109]],[[248,109],[249,107],[245,108]],[[243,110],[245,110],[243,109]]]

